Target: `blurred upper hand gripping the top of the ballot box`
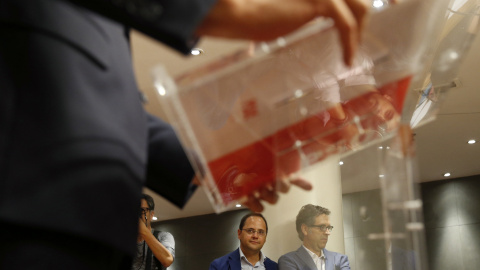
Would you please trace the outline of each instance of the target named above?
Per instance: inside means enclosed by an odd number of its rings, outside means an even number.
[[[344,62],[350,66],[368,10],[365,0],[219,0],[196,34],[267,41],[328,17],[339,30]]]

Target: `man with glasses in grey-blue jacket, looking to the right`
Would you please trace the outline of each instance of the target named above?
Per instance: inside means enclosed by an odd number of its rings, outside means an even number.
[[[346,255],[325,249],[333,230],[329,215],[330,210],[318,205],[307,204],[300,209],[295,223],[303,245],[278,259],[280,270],[350,270]]]

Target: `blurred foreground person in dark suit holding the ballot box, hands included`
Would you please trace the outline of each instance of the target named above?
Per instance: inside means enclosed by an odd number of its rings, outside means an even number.
[[[200,35],[267,40],[329,16],[348,64],[366,10],[358,0],[0,0],[0,269],[129,269],[143,185],[179,207],[194,191],[173,130],[143,110],[128,27],[188,54]],[[252,209],[276,201],[261,194]]]

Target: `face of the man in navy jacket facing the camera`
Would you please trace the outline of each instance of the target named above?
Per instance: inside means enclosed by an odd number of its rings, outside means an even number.
[[[248,232],[252,230],[255,232]],[[263,232],[263,234],[259,232]],[[256,216],[247,218],[242,230],[238,230],[238,239],[243,253],[260,252],[267,240],[267,226],[263,218]]]

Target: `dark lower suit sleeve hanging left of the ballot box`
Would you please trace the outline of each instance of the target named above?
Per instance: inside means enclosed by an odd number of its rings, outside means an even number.
[[[196,189],[194,170],[169,124],[148,114],[148,131],[146,186],[183,207]]]

